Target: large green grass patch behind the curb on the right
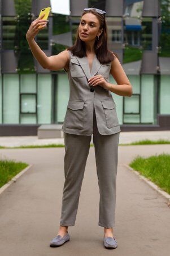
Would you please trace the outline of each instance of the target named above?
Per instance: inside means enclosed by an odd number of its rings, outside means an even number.
[[[137,156],[129,166],[170,194],[170,155]]]

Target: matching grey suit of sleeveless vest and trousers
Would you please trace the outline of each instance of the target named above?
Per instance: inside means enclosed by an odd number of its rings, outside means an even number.
[[[117,151],[120,125],[111,92],[101,86],[90,91],[88,79],[102,74],[109,82],[111,62],[101,64],[95,55],[90,72],[87,57],[69,51],[69,100],[62,131],[64,132],[64,188],[60,225],[74,226],[91,135],[95,148],[100,193],[101,227],[115,226]]]

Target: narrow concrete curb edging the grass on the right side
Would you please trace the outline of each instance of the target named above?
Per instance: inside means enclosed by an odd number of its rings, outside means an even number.
[[[159,194],[163,195],[163,197],[168,200],[168,206],[170,206],[170,195],[167,192],[165,192],[164,190],[160,189],[159,186],[154,184],[152,181],[150,181],[145,176],[143,176],[140,173],[138,173],[137,170],[134,170],[132,167],[129,167],[129,165],[124,164],[124,166],[127,167],[129,170],[131,170],[133,173],[135,173],[137,176],[139,176],[141,178],[141,180],[145,181],[149,186],[152,187],[152,189],[156,190]]]

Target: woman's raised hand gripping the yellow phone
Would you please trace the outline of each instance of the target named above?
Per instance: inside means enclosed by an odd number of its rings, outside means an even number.
[[[37,19],[33,20],[33,22],[30,24],[30,27],[26,33],[26,39],[33,40],[34,37],[38,34],[38,32],[46,27],[47,20],[43,20],[42,17],[45,16],[45,14],[42,14]],[[40,27],[40,25],[42,27]],[[39,28],[38,28],[39,27]]]

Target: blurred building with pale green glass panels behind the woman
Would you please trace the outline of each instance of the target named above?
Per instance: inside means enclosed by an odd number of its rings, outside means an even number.
[[[35,39],[48,57],[74,44],[85,7],[106,11],[108,46],[133,86],[132,97],[112,93],[121,131],[170,128],[170,0],[0,3],[0,136],[37,135],[41,125],[62,127],[69,99],[67,73],[43,69],[25,38],[32,20],[49,6],[49,24]],[[112,76],[110,83],[116,84]]]

